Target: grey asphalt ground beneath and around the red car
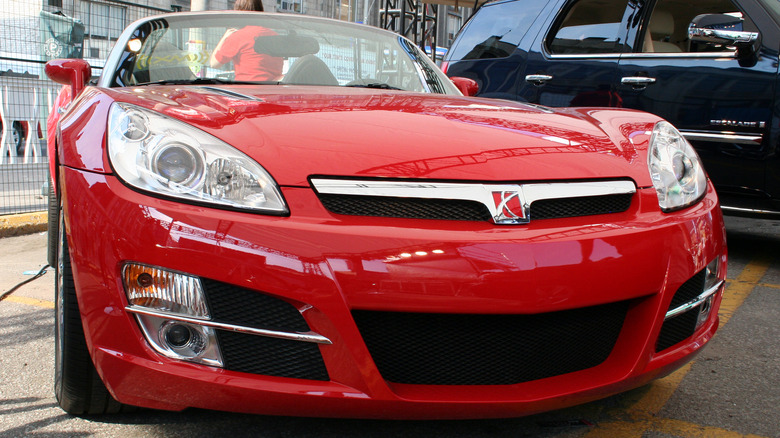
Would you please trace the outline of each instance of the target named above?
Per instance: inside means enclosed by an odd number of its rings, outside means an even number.
[[[694,362],[604,400],[479,421],[368,421],[140,410],[78,418],[57,407],[49,271],[0,302],[2,437],[780,438],[780,221],[729,217],[721,328]],[[45,265],[46,233],[0,238],[0,293]]]

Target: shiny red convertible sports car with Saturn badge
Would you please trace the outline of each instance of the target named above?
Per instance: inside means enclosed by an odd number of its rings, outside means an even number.
[[[398,35],[298,15],[152,17],[94,85],[46,70],[69,413],[521,416],[718,326],[718,199],[651,114],[464,97]]]

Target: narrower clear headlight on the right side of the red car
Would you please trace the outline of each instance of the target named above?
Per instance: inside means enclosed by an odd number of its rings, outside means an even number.
[[[707,191],[707,176],[699,156],[668,122],[655,125],[647,164],[658,204],[665,212],[692,205]]]

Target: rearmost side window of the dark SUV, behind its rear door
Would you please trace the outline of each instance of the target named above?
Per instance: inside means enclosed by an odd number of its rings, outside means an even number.
[[[483,6],[466,24],[460,42],[450,50],[449,59],[505,58],[511,55],[544,5],[540,1],[519,0]]]

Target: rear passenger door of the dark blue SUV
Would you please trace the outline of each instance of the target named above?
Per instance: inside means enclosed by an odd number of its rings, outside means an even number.
[[[615,84],[628,23],[629,0],[572,0],[550,14],[528,53],[518,100],[548,106],[620,106]]]

